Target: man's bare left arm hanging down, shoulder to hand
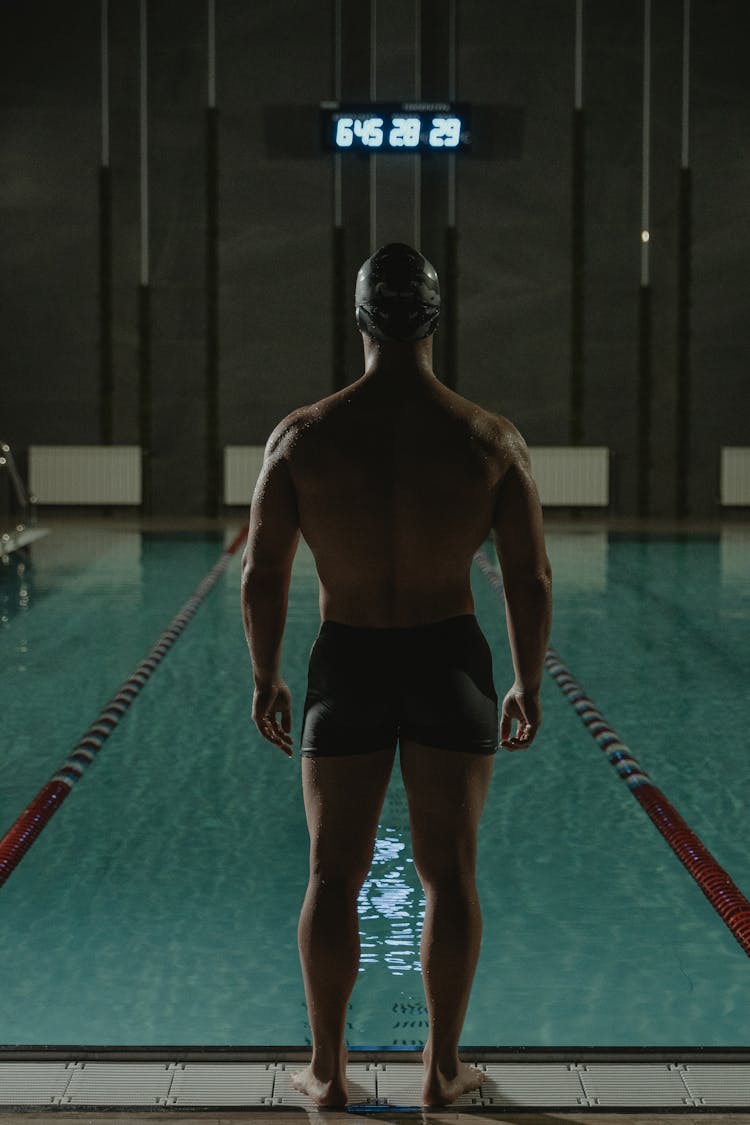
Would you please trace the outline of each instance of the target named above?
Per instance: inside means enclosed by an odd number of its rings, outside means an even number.
[[[291,757],[291,696],[281,678],[281,640],[299,543],[297,496],[279,443],[269,441],[242,557],[242,619],[253,663],[253,722]]]

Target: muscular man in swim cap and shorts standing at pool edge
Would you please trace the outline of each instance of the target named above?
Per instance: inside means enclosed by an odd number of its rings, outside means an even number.
[[[426,899],[423,1100],[435,1106],[482,1078],[458,1056],[481,938],[477,829],[498,740],[471,560],[494,532],[515,669],[500,724],[508,750],[528,747],[541,722],[551,576],[523,439],[433,372],[440,289],[430,262],[400,243],[382,246],[358,274],[355,312],[364,375],[277,426],[253,497],[242,587],[253,720],[291,756],[280,662],[301,532],[322,627],[300,747],[310,876],[299,951],[313,1059],[293,1082],[317,1105],[346,1104],[356,899],[398,741]]]

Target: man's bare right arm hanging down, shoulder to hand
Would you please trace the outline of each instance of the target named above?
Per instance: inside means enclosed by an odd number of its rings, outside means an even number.
[[[510,465],[498,488],[493,532],[503,569],[515,681],[503,702],[500,742],[508,750],[519,750],[531,745],[542,720],[540,691],[552,619],[552,570],[526,444],[517,431],[507,441]]]

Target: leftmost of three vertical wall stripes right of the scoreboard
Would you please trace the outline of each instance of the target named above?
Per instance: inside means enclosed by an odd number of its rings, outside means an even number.
[[[576,0],[573,51],[570,279],[570,404],[568,440],[584,440],[584,313],[585,313],[585,184],[586,122],[584,117],[584,0]]]

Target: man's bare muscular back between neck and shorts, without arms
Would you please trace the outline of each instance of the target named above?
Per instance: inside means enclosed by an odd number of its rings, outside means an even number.
[[[473,612],[471,559],[494,524],[519,435],[435,378],[363,377],[290,415],[287,464],[320,612],[409,626]]]

